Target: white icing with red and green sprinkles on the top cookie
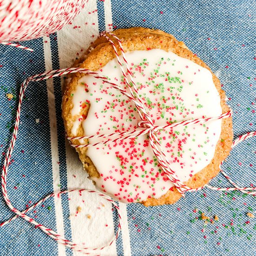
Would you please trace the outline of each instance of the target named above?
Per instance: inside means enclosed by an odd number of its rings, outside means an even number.
[[[161,49],[129,52],[126,57],[155,125],[222,114],[220,96],[208,69]],[[126,88],[116,59],[98,72]],[[132,131],[141,121],[132,101],[91,75],[79,80],[71,96],[71,114],[76,116],[73,135],[80,124],[84,135],[107,135]],[[90,104],[86,119],[81,116],[85,103]],[[162,129],[157,136],[176,177],[185,182],[211,162],[220,133],[221,120],[217,120]],[[119,201],[159,198],[173,187],[159,166],[147,135],[88,147],[87,155],[101,175],[93,178],[96,187]]]

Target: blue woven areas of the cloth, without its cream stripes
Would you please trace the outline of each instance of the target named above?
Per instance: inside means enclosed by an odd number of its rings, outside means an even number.
[[[256,2],[249,0],[112,0],[113,26],[153,27],[173,34],[196,53],[219,77],[233,109],[235,137],[256,130],[253,110],[256,104]],[[99,29],[105,29],[104,4],[98,1]],[[53,68],[59,68],[56,35],[50,36]],[[11,138],[17,95],[21,82],[45,69],[42,39],[22,42],[33,54],[0,45],[0,155]],[[67,187],[64,129],[61,120],[60,80],[54,80],[61,189]],[[7,99],[11,93],[14,98]],[[10,200],[17,209],[37,202],[53,190],[51,173],[50,128],[46,82],[31,83],[21,114],[22,123],[8,175]],[[35,120],[39,118],[39,123]],[[256,181],[255,138],[234,148],[224,170],[241,186]],[[222,175],[212,182],[229,186]],[[62,197],[65,236],[71,238],[67,196]],[[209,189],[186,193],[174,205],[145,208],[128,205],[131,253],[139,255],[255,255],[255,197],[240,192],[216,192]],[[206,216],[219,220],[205,224]],[[0,195],[0,221],[13,216]],[[38,207],[29,216],[56,230],[54,201]],[[114,222],[117,218],[114,212]],[[36,239],[35,239],[36,238]],[[57,244],[17,219],[0,228],[0,255],[57,255]],[[117,253],[123,255],[121,236]],[[72,251],[67,249],[67,255]]]

